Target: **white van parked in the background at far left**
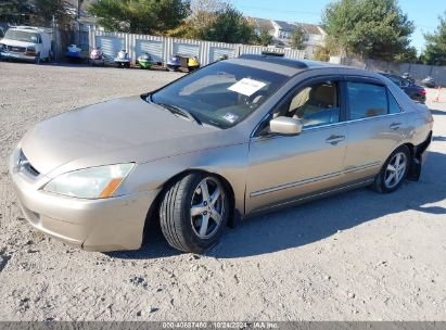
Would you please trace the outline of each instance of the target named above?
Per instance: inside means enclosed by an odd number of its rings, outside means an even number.
[[[33,61],[50,59],[51,38],[42,29],[30,26],[10,27],[0,40],[0,58]]]

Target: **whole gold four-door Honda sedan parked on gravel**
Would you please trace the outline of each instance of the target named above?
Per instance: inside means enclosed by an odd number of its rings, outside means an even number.
[[[200,253],[249,215],[418,179],[432,127],[381,75],[246,54],[42,122],[10,173],[26,218],[53,238],[136,250],[156,220],[171,246]]]

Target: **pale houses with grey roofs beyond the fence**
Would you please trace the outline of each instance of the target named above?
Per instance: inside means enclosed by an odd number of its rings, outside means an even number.
[[[327,33],[321,26],[306,23],[290,23],[284,21],[272,21],[265,18],[250,18],[254,25],[254,30],[259,34],[262,29],[267,29],[273,38],[273,45],[277,47],[290,47],[291,36],[294,30],[302,28],[304,30],[304,45],[306,58],[311,59],[318,47],[324,46]]]

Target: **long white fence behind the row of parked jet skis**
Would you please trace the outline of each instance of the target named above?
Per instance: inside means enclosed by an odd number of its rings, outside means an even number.
[[[283,53],[289,59],[304,59],[305,51],[292,49],[278,49],[262,46],[239,43],[225,43],[214,41],[190,40],[169,37],[133,35],[124,33],[105,33],[91,29],[89,31],[90,49],[100,47],[109,56],[115,56],[122,49],[128,51],[131,60],[144,52],[152,55],[156,62],[165,63],[173,54],[197,56],[202,65],[213,63],[221,55],[237,58],[244,53],[260,54],[263,51]]]

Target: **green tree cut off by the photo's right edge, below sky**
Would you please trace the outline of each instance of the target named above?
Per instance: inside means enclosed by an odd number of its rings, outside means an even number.
[[[424,35],[426,41],[425,50],[422,54],[424,64],[446,65],[446,12],[438,20],[439,25],[436,31]]]

